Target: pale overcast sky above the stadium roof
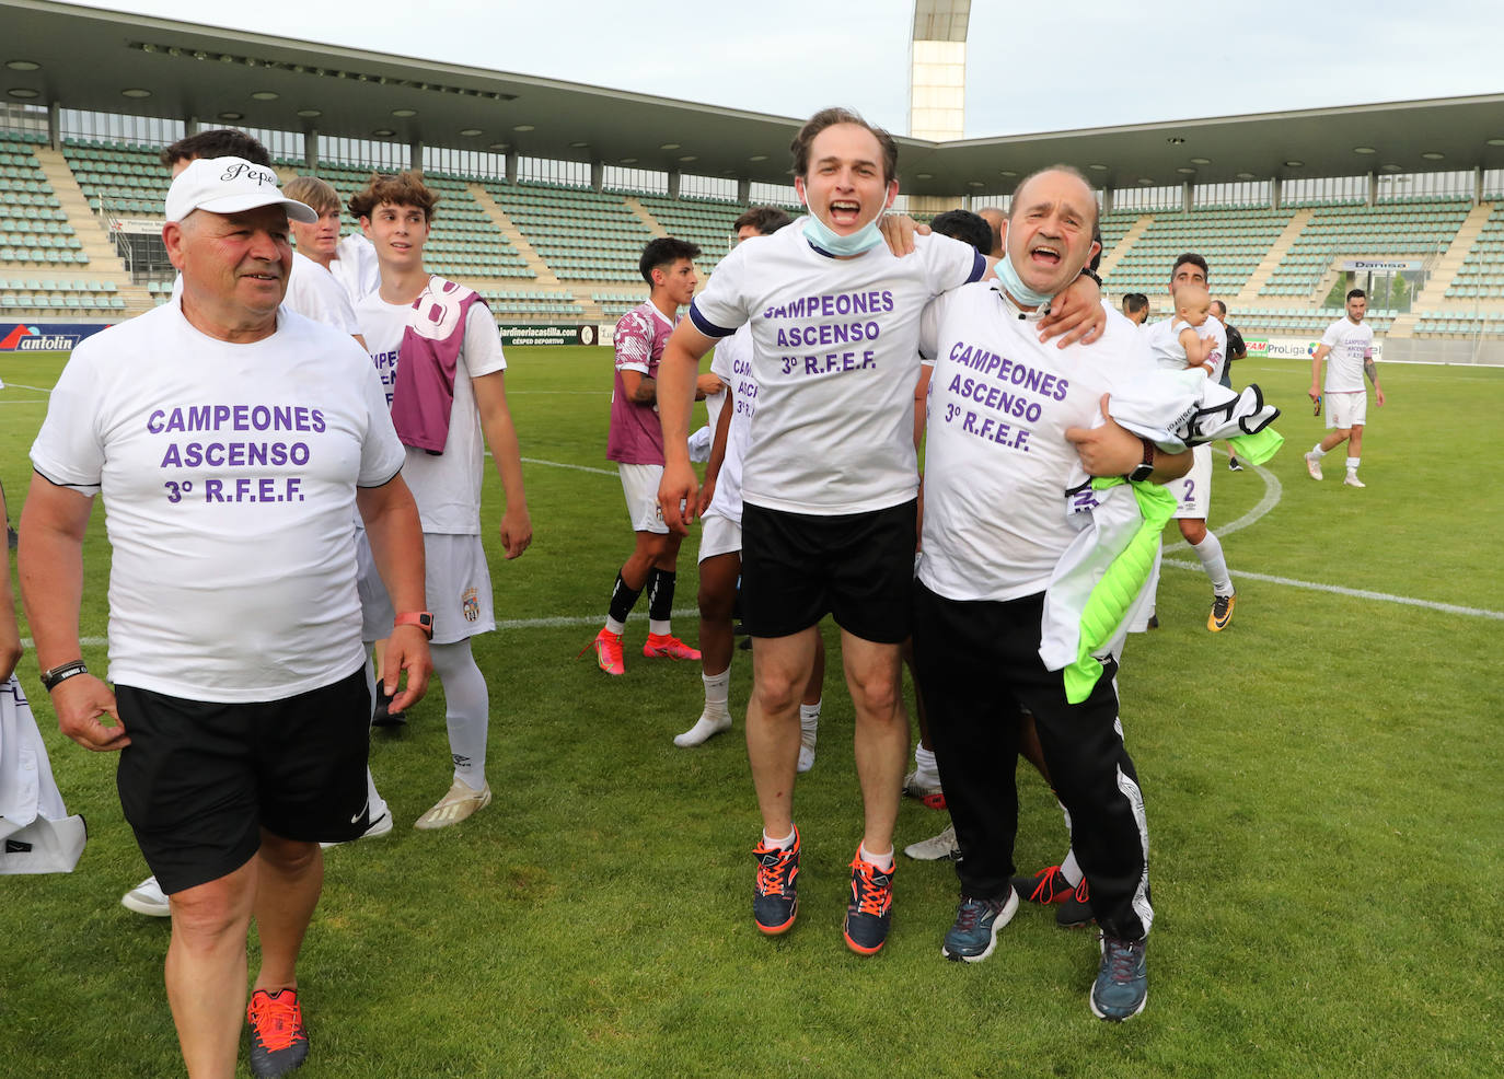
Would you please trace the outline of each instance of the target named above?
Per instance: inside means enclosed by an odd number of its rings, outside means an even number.
[[[775,116],[853,105],[908,129],[913,0],[642,5],[632,17],[621,0],[89,6]],[[973,3],[967,137],[1504,92],[1496,0],[1157,8]]]

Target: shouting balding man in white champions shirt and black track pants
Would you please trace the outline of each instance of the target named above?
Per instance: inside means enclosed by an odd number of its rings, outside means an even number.
[[[961,903],[949,959],[979,962],[1012,917],[1020,706],[1035,717],[1077,858],[1102,926],[1092,1011],[1122,1020],[1148,996],[1148,827],[1123,747],[1111,660],[1090,694],[1068,703],[1041,660],[1044,594],[1077,530],[1077,449],[1108,394],[1152,371],[1139,332],[1116,314],[1090,347],[1041,346],[1032,323],[1095,252],[1096,201],[1075,170],[1047,168],[1017,189],[996,283],[931,304],[922,340],[937,356],[925,458],[923,552],[914,658],[925,687],[946,801],[961,845]],[[1113,430],[1095,427],[1096,433]],[[1190,464],[1114,430],[1113,466],[1164,482]],[[1142,457],[1140,457],[1142,454]],[[1083,458],[1084,460],[1084,458]],[[1098,464],[1101,464],[1098,461]],[[1137,466],[1137,467],[1136,467]],[[1090,467],[1090,464],[1087,466]],[[1095,469],[1093,469],[1095,470]]]

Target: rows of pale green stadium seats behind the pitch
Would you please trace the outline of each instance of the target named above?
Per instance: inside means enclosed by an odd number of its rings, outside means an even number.
[[[126,299],[117,286],[77,275],[87,255],[81,249],[56,192],[48,185],[33,143],[36,132],[0,132],[0,308],[15,316],[119,317]],[[159,218],[168,173],[159,147],[99,140],[65,140],[63,158],[96,212]],[[284,174],[307,171],[302,161],[280,161]],[[367,165],[320,162],[317,174],[347,200],[368,180]],[[708,277],[731,246],[731,221],[744,209],[716,198],[669,198],[660,192],[594,191],[525,180],[430,171],[424,177],[441,203],[429,240],[427,261],[445,277],[474,286],[492,311],[508,322],[614,322],[639,304],[645,290],[638,272],[642,245],[659,230],[701,248],[701,277]],[[513,245],[477,197],[486,191],[520,230],[529,257]],[[1119,210],[1104,215],[1102,242],[1114,255],[1107,289],[1113,296],[1145,292],[1163,296],[1175,255],[1199,251],[1212,266],[1214,290],[1236,298],[1233,322],[1250,335],[1314,337],[1340,317],[1340,310],[1314,308],[1311,293],[1330,281],[1343,257],[1406,257],[1433,260],[1456,239],[1471,203],[1466,198],[1305,201],[1278,210],[1265,207],[1199,207]],[[1254,271],[1295,219],[1310,219],[1259,286]],[[922,215],[928,216],[928,215]],[[1142,233],[1126,242],[1140,219]],[[344,213],[346,231],[358,224]],[[559,286],[540,286],[538,272],[552,272]],[[117,278],[119,280],[119,278]],[[1250,283],[1251,281],[1251,283]],[[522,287],[510,287],[516,283]],[[612,287],[615,286],[615,287]],[[1247,301],[1257,293],[1253,304]],[[146,286],[162,302],[171,283]],[[137,293],[138,295],[138,293]],[[1324,298],[1325,299],[1325,298]],[[1268,307],[1260,301],[1271,301]],[[134,301],[138,302],[138,301]],[[1406,316],[1418,335],[1468,337],[1504,332],[1504,204],[1493,209],[1441,307]],[[599,314],[597,314],[599,311]],[[1375,308],[1369,322],[1385,334],[1399,311]],[[1403,332],[1403,331],[1400,331]]]

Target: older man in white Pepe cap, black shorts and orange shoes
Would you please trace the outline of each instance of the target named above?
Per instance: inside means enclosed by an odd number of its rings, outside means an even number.
[[[32,446],[21,588],[63,733],[123,750],[120,802],[171,899],[167,996],[188,1074],[233,1076],[247,932],[262,944],[251,1071],[298,1067],[296,959],[319,840],[367,825],[370,700],[352,514],[397,625],[387,688],[430,670],[423,536],[374,370],[280,311],[292,249],[272,170],[194,161],[167,194],[179,304],[74,350]],[[81,658],[83,536],[108,511],[110,687]]]

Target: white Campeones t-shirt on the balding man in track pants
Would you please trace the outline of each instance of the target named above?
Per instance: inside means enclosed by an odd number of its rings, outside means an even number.
[[[1104,392],[1154,371],[1143,335],[1116,311],[1090,346],[1038,341],[1038,313],[996,281],[925,313],[935,355],[925,443],[919,579],[951,600],[1044,592],[1077,530],[1065,491],[1080,467],[1068,427],[1090,427]]]

